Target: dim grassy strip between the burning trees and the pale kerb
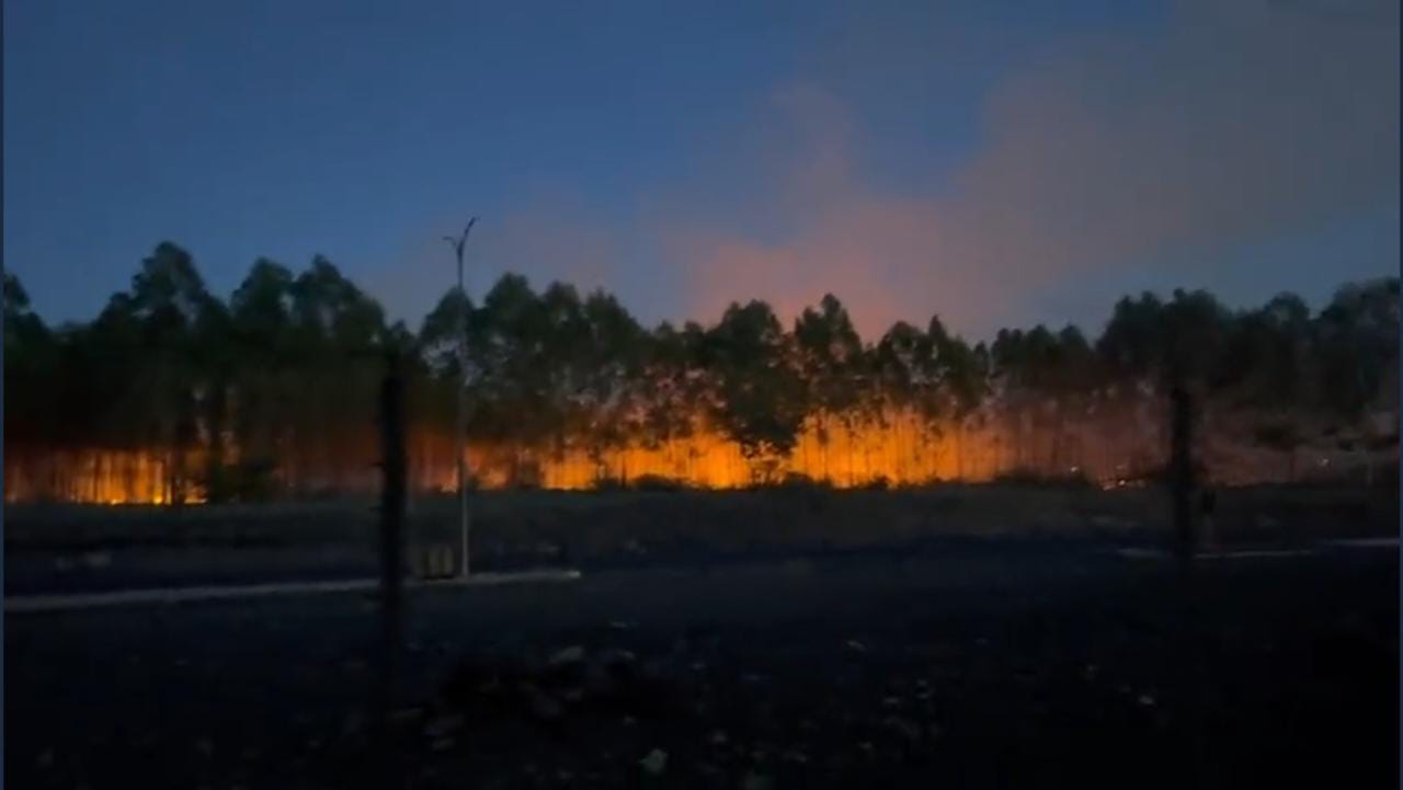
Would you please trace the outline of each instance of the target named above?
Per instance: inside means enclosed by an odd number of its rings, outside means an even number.
[[[373,504],[6,505],[4,589],[34,595],[373,575]],[[951,543],[989,537],[1000,539],[999,550],[1030,539],[1155,544],[1170,535],[1164,494],[1153,488],[491,491],[476,494],[473,508],[473,564],[494,571],[947,553]],[[1397,491],[1361,488],[1235,488],[1222,493],[1218,516],[1223,540],[1264,547],[1396,536],[1397,525]],[[417,501],[408,529],[424,543],[456,549],[456,501]]]

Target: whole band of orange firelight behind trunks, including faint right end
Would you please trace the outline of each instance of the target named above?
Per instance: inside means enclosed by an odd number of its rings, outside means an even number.
[[[1162,469],[1162,427],[1152,410],[1107,410],[1096,418],[1037,427],[1028,414],[948,422],[933,429],[909,411],[888,411],[875,421],[846,425],[832,415],[812,417],[787,457],[746,459],[741,448],[706,425],[690,436],[658,446],[589,448],[564,439],[550,448],[471,443],[469,471],[478,488],[515,486],[588,490],[633,486],[643,478],[692,488],[742,488],[808,478],[836,488],[873,484],[923,486],[934,481],[981,483],[1002,474],[1078,476],[1103,490],[1143,487]],[[821,425],[824,429],[821,429]],[[821,436],[826,435],[826,441]],[[352,442],[345,452],[296,453],[281,459],[275,487],[304,493],[369,494],[379,488],[373,443]],[[227,446],[227,445],[226,445]],[[236,450],[226,450],[230,456]],[[411,487],[456,490],[452,438],[417,431],[410,446]],[[1329,464],[1295,464],[1281,453],[1205,434],[1201,459],[1209,480],[1244,486],[1299,478],[1298,473],[1343,470],[1376,459],[1340,455]],[[1323,457],[1309,452],[1302,457]],[[205,501],[198,486],[206,456],[194,450],[174,473],[171,453],[152,450],[70,450],[39,455],[8,453],[4,498],[86,504],[184,504]]]

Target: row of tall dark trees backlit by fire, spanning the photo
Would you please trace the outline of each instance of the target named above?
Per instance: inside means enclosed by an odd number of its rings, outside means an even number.
[[[1396,429],[1372,420],[1382,410],[1396,427],[1396,278],[1344,285],[1317,312],[1289,293],[1240,310],[1202,290],[1142,293],[1121,299],[1094,340],[1037,326],[971,344],[934,316],[864,340],[832,295],[791,324],[751,300],[710,326],[648,328],[606,292],[537,292],[506,274],[480,302],[449,290],[411,328],[324,257],[300,272],[258,260],[220,299],[189,253],[161,243],[87,323],[48,326],[6,274],[4,330],[6,477],[27,476],[34,495],[53,494],[45,476],[72,471],[53,459],[97,450],[157,457],[177,502],[368,484],[391,349],[408,365],[424,486],[453,467],[457,382],[478,483],[497,486],[550,484],[543,467],[565,457],[593,484],[685,481],[703,439],[753,483],[794,469],[871,483],[890,477],[881,463],[905,463],[902,483],[1106,478],[1159,463],[1174,383],[1198,396],[1209,435],[1289,457],[1281,474],[1296,474],[1302,446],[1396,457]],[[868,441],[878,435],[887,443]],[[658,456],[675,474],[627,469],[662,448],[687,448]],[[922,460],[937,452],[943,466]]]

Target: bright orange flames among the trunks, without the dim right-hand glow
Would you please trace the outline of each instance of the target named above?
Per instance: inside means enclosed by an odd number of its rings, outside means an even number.
[[[717,431],[699,429],[657,446],[533,450],[471,443],[473,484],[484,490],[539,487],[578,491],[599,487],[676,486],[742,488],[755,484],[815,481],[836,488],[920,486],[933,481],[986,481],[1016,463],[1012,441],[988,431],[932,435],[915,415],[890,418],[881,427],[828,431],[812,422],[786,457],[746,459],[739,445]],[[452,442],[419,436],[411,449],[412,480],[421,491],[452,491],[456,486]],[[289,459],[275,470],[285,483],[309,481],[316,488],[373,491],[373,457],[361,459],[358,474],[297,466]],[[6,459],[6,501],[62,501],[104,505],[168,505],[205,501],[196,470],[202,457],[187,457],[185,477],[173,473],[168,455],[153,450],[91,450]],[[335,483],[333,483],[335,480]]]

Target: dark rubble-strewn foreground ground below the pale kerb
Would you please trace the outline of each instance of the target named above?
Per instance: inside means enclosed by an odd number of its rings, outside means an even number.
[[[6,779],[1397,786],[1396,549],[1187,578],[1107,549],[1009,537],[421,592],[386,738],[359,596],[8,616]]]

